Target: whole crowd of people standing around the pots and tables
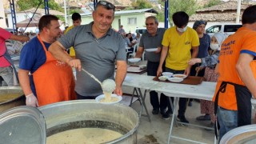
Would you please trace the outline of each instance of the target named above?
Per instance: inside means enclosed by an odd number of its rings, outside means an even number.
[[[172,15],[174,26],[158,28],[158,19],[146,18],[145,34],[126,34],[123,26],[118,32],[111,28],[115,6],[99,1],[92,16],[93,22],[81,25],[81,15],[72,15],[73,26],[60,30],[58,18],[44,15],[38,23],[38,35],[15,35],[0,28],[0,76],[8,86],[14,86],[15,66],[6,50],[6,39],[27,42],[20,54],[18,81],[26,95],[27,106],[45,106],[54,102],[74,99],[94,99],[102,88],[82,69],[94,74],[101,82],[114,79],[115,94],[122,95],[122,82],[126,77],[126,47],[132,50],[138,44],[135,58],[145,52],[147,75],[159,76],[162,72],[203,77],[206,82],[217,82],[213,101],[201,100],[198,121],[210,121],[209,126],[220,126],[219,139],[229,130],[250,125],[250,98],[256,95],[256,6],[242,14],[242,28],[226,37],[216,33],[212,38],[205,34],[206,22],[187,26],[189,15],[178,11]],[[30,40],[30,41],[29,41]],[[28,42],[29,41],[29,42]],[[157,50],[146,52],[156,47]],[[70,54],[67,51],[70,50]],[[116,74],[114,70],[116,65]],[[76,69],[76,82],[72,67]],[[178,117],[186,119],[189,100],[180,98]],[[173,113],[168,97],[150,91],[152,114],[168,119]]]

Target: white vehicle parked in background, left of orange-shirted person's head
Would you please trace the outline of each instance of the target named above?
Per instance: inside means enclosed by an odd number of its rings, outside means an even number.
[[[210,26],[206,29],[206,33],[212,37],[214,33],[222,32],[224,34],[230,35],[234,34],[240,27],[242,27],[242,24],[237,23],[223,23],[219,25]]]

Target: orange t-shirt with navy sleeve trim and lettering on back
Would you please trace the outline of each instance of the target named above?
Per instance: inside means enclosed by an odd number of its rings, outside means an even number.
[[[236,70],[236,63],[239,55],[242,53],[250,54],[256,57],[256,32],[245,27],[238,29],[235,34],[230,35],[222,42],[221,51],[218,57],[219,73],[218,90],[221,82],[233,82],[238,85],[245,85],[239,78]],[[250,68],[256,78],[256,61],[250,62]],[[237,110],[237,102],[234,91],[234,86],[227,85],[225,93],[220,93],[218,98],[218,106],[222,106],[227,110]]]

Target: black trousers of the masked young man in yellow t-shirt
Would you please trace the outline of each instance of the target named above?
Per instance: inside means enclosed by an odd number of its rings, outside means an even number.
[[[185,70],[172,70],[169,68],[166,68],[166,72],[171,72],[174,74],[184,74]],[[174,98],[171,98],[172,102],[174,102]],[[185,112],[186,112],[186,102],[187,102],[187,98],[179,98],[178,101],[178,116],[185,116]],[[170,109],[170,102],[168,101],[168,109]],[[170,109],[171,110],[171,109]]]

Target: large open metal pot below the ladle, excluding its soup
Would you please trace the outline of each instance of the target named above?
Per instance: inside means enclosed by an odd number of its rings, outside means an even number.
[[[58,102],[38,108],[46,119],[46,135],[87,126],[117,131],[122,137],[106,143],[137,143],[138,113],[122,104],[94,100]]]

